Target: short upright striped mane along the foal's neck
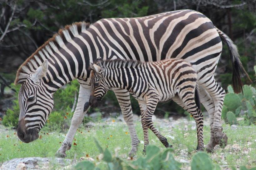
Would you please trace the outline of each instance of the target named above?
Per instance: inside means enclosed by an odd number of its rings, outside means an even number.
[[[121,60],[121,59],[115,59],[115,60],[102,60],[97,62],[96,64],[99,65],[102,68],[133,68],[141,65],[143,62],[140,62],[138,60]]]

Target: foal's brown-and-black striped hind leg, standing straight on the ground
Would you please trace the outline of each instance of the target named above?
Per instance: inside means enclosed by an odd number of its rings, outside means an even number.
[[[196,129],[197,129],[197,147],[196,150],[204,150],[204,136],[203,136],[203,127],[204,127],[204,116],[199,110],[199,108],[196,106],[196,102],[194,100],[194,93],[186,93],[190,91],[183,90],[181,94],[179,94],[179,97],[184,103],[185,108],[188,108],[187,111],[190,113],[190,115],[193,116],[195,122],[196,122]]]

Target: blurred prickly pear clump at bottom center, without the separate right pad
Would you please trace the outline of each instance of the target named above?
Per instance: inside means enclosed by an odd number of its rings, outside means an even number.
[[[155,145],[148,145],[146,148],[146,156],[142,156],[134,161],[124,161],[122,160],[116,151],[115,155],[112,155],[108,148],[103,149],[97,140],[95,140],[95,143],[101,152],[103,154],[103,161],[106,162],[107,167],[109,170],[112,169],[154,169],[154,170],[160,170],[160,169],[173,169],[178,170],[180,169],[181,163],[175,161],[173,155],[171,152],[173,149],[165,149],[160,150]],[[75,166],[76,170],[80,169],[99,169],[95,167],[95,165],[89,161],[83,161],[80,163],[77,163]]]

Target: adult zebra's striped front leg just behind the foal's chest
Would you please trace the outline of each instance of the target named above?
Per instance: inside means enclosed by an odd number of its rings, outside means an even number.
[[[129,156],[132,157],[137,152],[139,139],[134,127],[133,114],[132,114],[131,102],[130,102],[130,94],[127,90],[122,90],[122,89],[118,89],[118,90],[113,89],[113,91],[116,94],[116,98],[120,105],[124,120],[130,132],[131,151],[129,152]]]

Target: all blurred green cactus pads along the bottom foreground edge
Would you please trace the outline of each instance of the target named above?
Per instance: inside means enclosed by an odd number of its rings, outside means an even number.
[[[95,144],[98,147],[101,154],[103,154],[103,163],[106,164],[109,170],[121,170],[121,169],[145,169],[145,170],[180,170],[181,163],[175,161],[171,154],[173,149],[163,149],[155,145],[148,145],[146,148],[146,155],[140,156],[137,160],[123,160],[118,156],[118,149],[115,150],[115,154],[111,154],[108,148],[103,149],[96,139]],[[82,161],[76,164],[76,170],[89,169],[99,170],[95,163],[90,161]],[[219,165],[213,163],[210,156],[205,152],[196,153],[191,161],[191,170],[220,170]]]

